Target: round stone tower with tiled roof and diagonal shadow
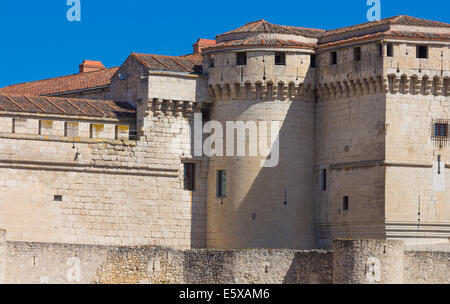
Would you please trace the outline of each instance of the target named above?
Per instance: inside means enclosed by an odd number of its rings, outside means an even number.
[[[207,247],[314,247],[318,34],[261,20],[219,35],[218,44],[204,52],[210,117],[220,122],[224,134],[223,156],[210,158]],[[233,123],[235,132],[230,131]],[[277,125],[276,138],[268,141]],[[238,154],[243,137],[245,156]],[[266,157],[261,143],[268,142],[273,142],[272,152]],[[262,165],[266,159],[270,162]]]

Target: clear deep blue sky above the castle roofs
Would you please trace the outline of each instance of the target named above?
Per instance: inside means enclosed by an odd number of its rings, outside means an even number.
[[[380,0],[381,17],[410,15],[450,23],[449,0]],[[367,22],[367,0],[1,0],[0,87],[75,74],[84,60],[119,66],[130,52],[184,55],[197,38],[247,22],[333,29]]]

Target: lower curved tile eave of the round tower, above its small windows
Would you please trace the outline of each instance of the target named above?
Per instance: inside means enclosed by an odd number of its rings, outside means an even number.
[[[243,40],[231,40],[225,41],[217,44],[216,46],[209,47],[206,51],[216,50],[216,49],[228,49],[235,47],[273,47],[273,48],[307,48],[314,49],[316,44],[303,43],[292,40],[281,40],[281,39],[263,39],[263,38],[248,38]]]

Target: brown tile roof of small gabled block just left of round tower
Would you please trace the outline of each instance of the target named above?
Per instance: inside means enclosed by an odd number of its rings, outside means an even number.
[[[201,55],[163,56],[132,53],[142,64],[151,70],[194,73],[196,66],[202,65]]]

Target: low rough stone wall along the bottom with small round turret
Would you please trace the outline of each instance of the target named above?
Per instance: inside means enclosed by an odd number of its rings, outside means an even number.
[[[0,242],[5,283],[449,283],[450,252],[403,251],[401,241],[338,240],[322,250],[176,250]],[[1,264],[0,264],[1,265]],[[2,268],[0,268],[2,270]],[[1,274],[1,272],[0,272]]]

